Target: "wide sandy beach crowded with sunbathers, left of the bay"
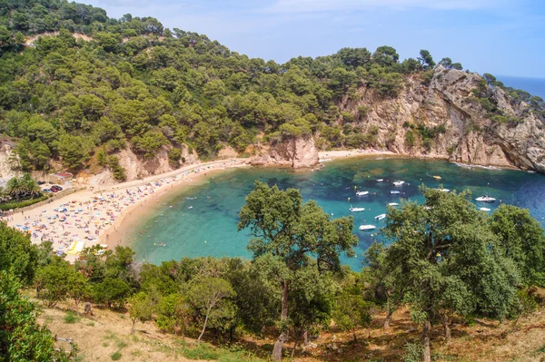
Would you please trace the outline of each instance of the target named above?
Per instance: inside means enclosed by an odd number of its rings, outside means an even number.
[[[204,162],[144,180],[77,191],[32,210],[15,211],[5,220],[9,226],[28,232],[33,243],[52,241],[55,252],[64,253],[66,259],[74,261],[84,248],[96,244],[108,248],[118,245],[124,235],[121,225],[135,208],[158,202],[167,191],[193,185],[215,171],[242,167],[245,161]]]

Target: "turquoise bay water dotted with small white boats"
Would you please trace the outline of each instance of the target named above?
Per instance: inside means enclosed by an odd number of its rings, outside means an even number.
[[[433,175],[440,175],[441,181],[435,180]],[[377,182],[377,179],[384,181]],[[469,188],[473,199],[489,194],[498,201],[492,204],[476,202],[476,205],[493,209],[499,201],[507,202],[528,208],[535,218],[542,223],[545,221],[545,177],[522,171],[469,169],[447,161],[357,158],[327,162],[318,171],[233,169],[216,173],[213,179],[200,186],[177,193],[173,191],[172,195],[165,196],[165,205],[157,204],[139,220],[132,235],[135,240],[131,242],[137,259],[160,263],[209,255],[251,258],[246,249],[250,239],[248,232],[237,232],[236,225],[244,197],[253,190],[254,180],[278,184],[282,189],[301,189],[305,201],[318,201],[323,210],[335,217],[352,214],[353,232],[360,243],[355,249],[357,257],[343,257],[342,262],[355,270],[362,268],[363,253],[376,239],[376,230],[360,231],[358,227],[362,224],[383,226],[384,220],[377,221],[374,217],[386,212],[387,203],[399,202],[400,197],[421,201],[418,192],[421,183],[429,187],[442,183],[444,188],[457,191]],[[395,187],[391,182],[397,180],[407,183]],[[358,197],[354,186],[370,191],[370,194]],[[392,195],[391,190],[401,191],[401,194]],[[351,212],[351,204],[365,210]]]

